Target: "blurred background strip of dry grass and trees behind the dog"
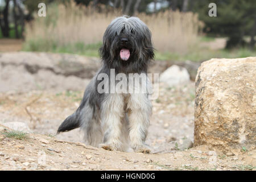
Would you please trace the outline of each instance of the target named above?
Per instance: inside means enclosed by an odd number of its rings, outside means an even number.
[[[46,17],[38,16],[40,2],[46,3]],[[208,15],[211,2],[216,17]],[[156,60],[256,56],[254,0],[0,0],[0,52],[98,57],[106,27],[123,14],[148,25]]]

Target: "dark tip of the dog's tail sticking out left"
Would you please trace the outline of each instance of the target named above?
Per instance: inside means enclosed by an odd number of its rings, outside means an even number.
[[[63,123],[61,123],[61,125],[59,126],[59,129],[57,130],[57,134],[59,134],[60,132],[65,132],[65,131],[73,130],[80,127],[81,126],[80,120],[81,119],[79,117],[79,112],[77,111],[72,115],[69,115],[69,117],[67,117],[63,121]]]

